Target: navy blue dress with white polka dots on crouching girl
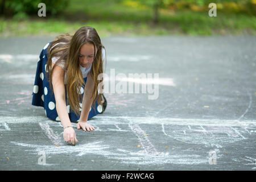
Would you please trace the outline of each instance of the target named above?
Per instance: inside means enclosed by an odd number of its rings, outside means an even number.
[[[46,64],[47,64],[47,47],[50,43],[44,46],[42,52],[40,53],[38,60],[38,67],[36,68],[35,75],[35,84],[32,93],[32,105],[34,106],[42,106],[46,112],[46,117],[52,119],[54,121],[60,121],[60,118],[57,114],[56,110],[56,102],[53,91],[50,89],[49,82],[46,78]],[[87,77],[84,78],[86,83]],[[80,94],[84,95],[84,86],[80,89]],[[66,91],[66,90],[65,90]],[[70,106],[67,104],[67,92],[66,93],[66,106],[68,110],[69,119],[72,122],[77,122],[80,118],[80,115],[76,115],[71,110]],[[105,97],[104,97],[105,98]],[[80,106],[82,106],[82,101],[80,100]],[[81,111],[81,109],[80,109]],[[97,114],[102,113],[103,108],[102,105],[98,104],[98,100],[96,100],[96,104],[93,104],[90,108],[88,119],[94,117]]]

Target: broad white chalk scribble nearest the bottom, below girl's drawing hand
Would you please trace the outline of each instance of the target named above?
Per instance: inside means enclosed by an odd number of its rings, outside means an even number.
[[[26,144],[20,142],[11,142],[18,146],[29,147],[30,154],[37,155],[38,152],[44,151],[46,155],[60,155],[60,154],[74,154],[76,156],[84,156],[86,154],[103,155],[108,159],[118,159],[121,163],[126,164],[201,164],[208,163],[207,158],[202,158],[200,155],[168,155],[168,153],[162,153],[160,155],[147,155],[143,150],[138,152],[132,152],[117,148],[115,152],[110,152],[109,145],[101,144],[102,142],[92,142],[86,144],[80,144],[73,146],[40,146],[36,144]],[[30,149],[31,148],[31,149]]]

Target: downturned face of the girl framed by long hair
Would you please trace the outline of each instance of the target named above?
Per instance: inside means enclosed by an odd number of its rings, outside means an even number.
[[[79,52],[79,64],[83,68],[89,67],[89,65],[93,62],[93,51],[94,47],[93,44],[86,43],[82,45],[80,52]],[[97,50],[96,50],[97,53]]]

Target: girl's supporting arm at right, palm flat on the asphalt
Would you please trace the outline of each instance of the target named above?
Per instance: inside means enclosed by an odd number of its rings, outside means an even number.
[[[84,89],[85,92],[82,98],[82,111],[81,111],[79,123],[77,123],[77,129],[80,129],[80,127],[82,127],[84,131],[85,129],[87,131],[95,130],[93,126],[87,123],[90,107],[92,107],[92,104],[93,104],[93,98],[92,98],[93,88],[94,88],[94,82],[93,82],[92,76],[90,76],[90,74],[88,73],[87,81]]]

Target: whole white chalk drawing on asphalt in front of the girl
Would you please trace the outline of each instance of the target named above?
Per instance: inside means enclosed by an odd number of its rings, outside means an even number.
[[[5,117],[8,118],[8,117]],[[168,120],[167,120],[168,119]],[[29,122],[28,118],[25,118]],[[7,121],[7,120],[5,120]],[[191,122],[193,121],[193,122]],[[95,125],[94,125],[95,122]],[[52,122],[44,119],[39,122],[39,126],[44,131],[45,136],[51,140],[52,145],[38,145],[23,142],[11,143],[16,146],[26,147],[26,151],[32,154],[38,154],[39,151],[46,151],[47,155],[73,154],[83,156],[86,154],[101,155],[111,160],[118,160],[127,164],[207,164],[208,155],[192,154],[189,150],[184,150],[177,154],[175,151],[166,151],[154,146],[150,137],[142,137],[146,134],[143,130],[144,125],[156,125],[161,128],[163,136],[171,136],[179,142],[187,142],[191,144],[203,144],[208,147],[216,148],[218,151],[217,158],[221,155],[218,148],[224,147],[229,143],[238,142],[246,139],[249,133],[243,129],[250,126],[255,130],[255,121],[227,121],[204,119],[204,122],[197,119],[183,119],[181,122],[175,118],[150,118],[150,117],[98,117],[97,122],[91,124],[96,128],[96,132],[125,132],[134,135],[138,143],[141,145],[137,150],[122,148],[122,146],[112,146],[108,142],[96,140],[94,142],[78,144],[77,146],[67,146],[63,144],[61,138],[62,133],[57,133],[51,126],[60,128],[60,122]],[[105,127],[109,125],[109,127]],[[1,123],[4,125],[3,123]],[[75,126],[75,123],[72,123]],[[102,126],[101,125],[105,125]],[[240,126],[241,125],[241,126]],[[113,126],[112,128],[110,126]],[[147,127],[146,127],[147,128]],[[242,133],[244,131],[244,133]],[[93,131],[95,132],[95,131]],[[151,136],[152,137],[152,136]],[[154,136],[153,136],[154,137]],[[215,140],[213,140],[215,138]],[[59,143],[59,147],[55,144]]]

